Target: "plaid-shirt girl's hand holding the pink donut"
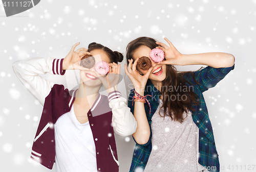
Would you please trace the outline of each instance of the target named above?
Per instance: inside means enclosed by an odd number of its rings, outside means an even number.
[[[166,44],[162,42],[156,42],[158,45],[156,48],[161,48],[162,51],[164,52],[164,57],[166,60],[159,62],[157,64],[174,64],[174,65],[181,65],[181,59],[182,59],[182,54],[178,52],[178,50],[174,47],[172,42],[170,42],[166,37],[164,39],[168,42],[169,46],[168,47]],[[163,47],[162,47],[163,46]]]

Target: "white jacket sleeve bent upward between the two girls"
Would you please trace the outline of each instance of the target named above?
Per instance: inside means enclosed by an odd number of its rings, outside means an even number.
[[[112,91],[108,95],[109,106],[112,109],[112,126],[115,133],[129,136],[136,132],[137,121],[126,105],[126,99],[119,91]]]

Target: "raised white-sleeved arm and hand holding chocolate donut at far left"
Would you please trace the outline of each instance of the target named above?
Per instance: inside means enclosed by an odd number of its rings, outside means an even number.
[[[82,66],[75,62],[81,60],[81,57],[84,54],[88,54],[88,52],[86,52],[86,48],[79,48],[74,52],[78,44],[76,43],[72,46],[71,51],[64,59],[55,59],[50,56],[45,58],[33,57],[19,60],[12,64],[15,75],[42,106],[44,106],[45,98],[50,93],[54,83],[45,80],[39,75],[46,73],[64,75],[66,69],[73,69],[72,67],[80,69]],[[82,50],[84,52],[81,52]]]

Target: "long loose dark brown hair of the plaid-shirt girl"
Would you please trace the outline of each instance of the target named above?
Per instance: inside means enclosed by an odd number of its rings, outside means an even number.
[[[141,45],[145,45],[145,46],[151,48],[151,50],[153,48],[159,46],[158,44],[156,44],[155,39],[149,38],[149,37],[139,37],[139,38],[131,41],[126,47],[126,62],[127,62],[127,64],[129,64],[128,59],[133,58],[133,54],[134,54],[135,50],[137,50],[137,48],[139,48]],[[191,104],[196,104],[196,105],[199,104],[198,96],[193,90],[175,89],[175,88],[177,88],[177,86],[181,87],[181,88],[184,88],[183,86],[185,86],[187,88],[186,82],[189,85],[191,85],[190,82],[188,82],[187,80],[185,80],[183,78],[183,76],[186,73],[191,73],[191,75],[194,74],[193,71],[178,72],[174,65],[166,65],[166,78],[162,81],[162,88],[161,88],[161,94],[163,96],[163,105],[160,107],[160,109],[164,108],[164,116],[163,117],[165,117],[166,110],[167,110],[168,111],[168,114],[166,114],[167,116],[170,116],[170,118],[172,118],[176,121],[180,121],[181,123],[184,120],[183,112],[185,111],[186,113],[188,113],[187,109],[189,109],[191,111],[195,111],[195,109],[191,106]],[[195,80],[194,75],[193,75],[193,78]],[[169,89],[168,89],[168,88],[170,88],[170,86],[172,88],[174,88],[174,89],[172,89],[172,91],[169,91]],[[188,99],[186,99],[186,100],[175,99],[174,101],[170,101],[169,98],[172,97],[172,95],[174,95],[175,97],[177,97],[179,95],[182,97],[182,95],[185,95],[186,97],[188,96]],[[173,113],[173,115],[172,115],[172,113]],[[159,111],[159,115],[160,115],[160,111]]]

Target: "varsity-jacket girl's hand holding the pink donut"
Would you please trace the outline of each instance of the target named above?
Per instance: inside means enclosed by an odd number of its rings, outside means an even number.
[[[115,62],[113,63],[108,63],[110,66],[110,71],[108,72],[107,75],[99,75],[99,73],[96,73],[96,77],[102,82],[103,86],[108,92],[117,90],[117,85],[120,79],[120,68],[121,64],[116,64]],[[115,89],[114,89],[115,87]]]

